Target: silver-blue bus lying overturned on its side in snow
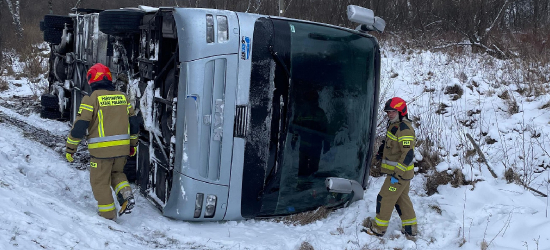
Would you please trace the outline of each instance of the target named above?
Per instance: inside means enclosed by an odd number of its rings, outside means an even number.
[[[107,65],[141,119],[125,167],[168,217],[281,216],[361,199],[369,176],[383,31],[227,10],[75,9],[41,22],[51,46],[44,118],[72,122]]]

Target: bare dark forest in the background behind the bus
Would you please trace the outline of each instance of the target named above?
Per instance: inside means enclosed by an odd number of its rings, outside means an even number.
[[[46,14],[67,15],[74,7],[179,6],[305,19],[348,28],[346,7],[374,10],[386,21],[383,42],[396,37],[405,48],[461,49],[497,58],[548,62],[548,0],[0,0],[0,51],[25,54],[42,41],[39,22]]]

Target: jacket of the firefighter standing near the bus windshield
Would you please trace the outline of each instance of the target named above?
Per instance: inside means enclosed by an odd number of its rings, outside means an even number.
[[[381,172],[401,180],[412,179],[415,142],[414,128],[408,119],[390,123],[386,132]]]

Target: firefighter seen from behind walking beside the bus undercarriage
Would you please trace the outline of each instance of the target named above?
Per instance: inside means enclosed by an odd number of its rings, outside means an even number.
[[[120,204],[118,215],[130,213],[135,205],[123,169],[127,156],[136,154],[139,122],[128,97],[115,90],[109,68],[97,63],[88,70],[87,79],[92,93],[82,99],[67,138],[66,158],[73,162],[78,144],[87,136],[90,184],[99,215],[114,220],[117,212],[111,187]]]

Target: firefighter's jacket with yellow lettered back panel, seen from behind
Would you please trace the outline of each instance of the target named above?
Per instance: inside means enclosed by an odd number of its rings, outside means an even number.
[[[94,90],[84,96],[67,138],[66,152],[76,152],[86,136],[90,155],[95,158],[127,156],[138,143],[139,122],[128,97],[113,88]]]

